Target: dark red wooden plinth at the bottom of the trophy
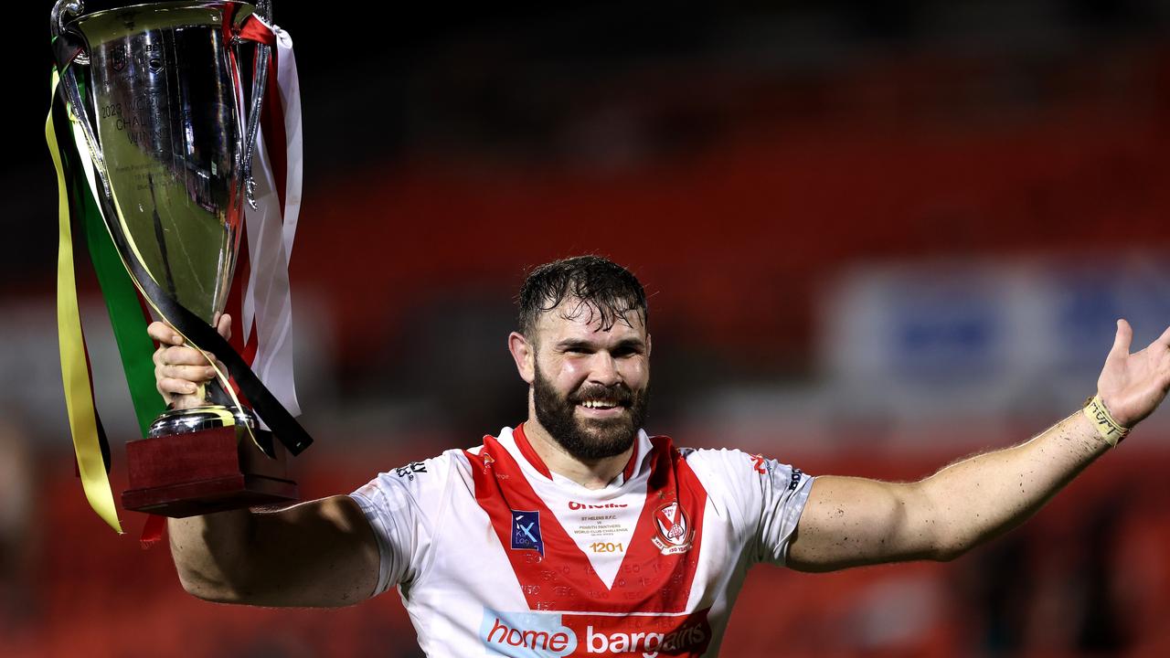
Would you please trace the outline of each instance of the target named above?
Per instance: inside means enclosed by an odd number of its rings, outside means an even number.
[[[126,443],[129,488],[122,506],[181,519],[256,505],[295,502],[284,446],[253,430],[270,446],[268,457],[236,427],[213,427]]]

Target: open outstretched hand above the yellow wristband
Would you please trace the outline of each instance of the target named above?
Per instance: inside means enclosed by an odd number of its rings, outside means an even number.
[[[1097,378],[1097,395],[1114,420],[1133,427],[1157,409],[1170,389],[1170,328],[1144,350],[1129,354],[1134,329],[1117,321],[1117,336]]]

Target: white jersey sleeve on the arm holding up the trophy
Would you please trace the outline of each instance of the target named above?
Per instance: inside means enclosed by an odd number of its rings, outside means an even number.
[[[447,506],[452,467],[449,454],[412,461],[379,473],[350,494],[378,540],[374,596],[410,584],[426,569]]]

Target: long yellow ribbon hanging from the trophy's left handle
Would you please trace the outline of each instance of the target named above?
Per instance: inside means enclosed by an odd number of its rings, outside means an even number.
[[[94,392],[89,382],[84,343],[81,333],[81,314],[77,310],[77,282],[74,279],[73,234],[69,228],[69,196],[61,151],[53,129],[53,102],[56,98],[58,76],[53,71],[49,96],[49,117],[44,122],[44,140],[53,155],[53,166],[57,170],[57,214],[60,217],[57,249],[57,341],[61,348],[61,382],[64,384],[66,407],[69,411],[69,429],[73,432],[74,450],[77,453],[77,469],[82,488],[90,507],[122,534],[118,510],[113,505],[113,492],[105,474],[102,448],[97,440],[97,414],[94,411]]]

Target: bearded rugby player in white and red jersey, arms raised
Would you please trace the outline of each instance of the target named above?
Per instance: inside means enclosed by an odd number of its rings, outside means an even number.
[[[1170,385],[1170,329],[1131,355],[1119,321],[1088,412],[917,482],[813,479],[648,437],[646,322],[642,286],[613,262],[535,269],[508,336],[529,384],[523,424],[349,496],[172,519],[184,587],[325,606],[398,585],[429,656],[715,656],[753,563],[954,558],[1035,512]],[[184,396],[212,376],[206,358],[165,324],[150,335],[171,345],[156,352],[159,391],[191,404]]]

